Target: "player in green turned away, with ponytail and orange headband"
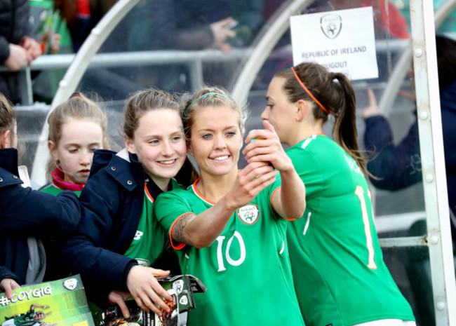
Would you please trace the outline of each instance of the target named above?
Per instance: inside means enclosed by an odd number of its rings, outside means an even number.
[[[295,290],[306,325],[415,325],[383,262],[358,149],[355,97],[344,74],[302,63],[279,72],[262,118],[306,184],[304,217],[288,226]],[[335,142],[323,135],[335,118]]]

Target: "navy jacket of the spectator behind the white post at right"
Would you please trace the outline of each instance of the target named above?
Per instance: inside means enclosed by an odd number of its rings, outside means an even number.
[[[456,81],[440,91],[440,102],[448,202],[456,214]],[[402,189],[422,180],[417,121],[395,146],[388,121],[382,116],[368,118],[364,144],[368,151],[375,151],[373,160],[368,163],[368,170],[381,178],[370,179],[377,188]]]

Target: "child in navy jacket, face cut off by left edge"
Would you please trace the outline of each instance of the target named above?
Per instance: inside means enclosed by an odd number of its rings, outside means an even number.
[[[0,271],[15,280],[1,282],[10,294],[11,287],[43,280],[46,254],[41,239],[73,231],[81,218],[71,191],[55,197],[30,188],[26,168],[18,168],[16,132],[15,113],[0,94]]]

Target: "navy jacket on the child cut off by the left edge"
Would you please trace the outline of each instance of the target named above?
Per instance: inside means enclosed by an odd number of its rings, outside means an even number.
[[[29,262],[27,237],[44,237],[74,231],[81,217],[77,196],[64,191],[55,197],[23,188],[18,177],[18,151],[0,149],[0,265],[20,284]]]

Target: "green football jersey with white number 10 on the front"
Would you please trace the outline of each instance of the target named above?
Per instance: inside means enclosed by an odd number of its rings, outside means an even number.
[[[198,215],[215,204],[195,185],[158,197],[155,214],[168,234],[180,216]],[[275,189],[269,186],[236,210],[210,247],[173,243],[182,273],[196,276],[208,287],[207,292],[195,294],[196,308],[189,311],[187,325],[304,325],[288,257],[290,222],[272,208]]]

